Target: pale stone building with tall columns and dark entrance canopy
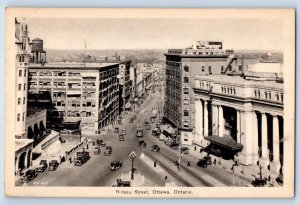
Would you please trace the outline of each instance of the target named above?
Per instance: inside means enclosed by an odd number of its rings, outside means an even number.
[[[193,143],[244,165],[283,172],[283,76],[271,59],[241,72],[195,76]]]

